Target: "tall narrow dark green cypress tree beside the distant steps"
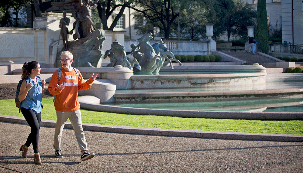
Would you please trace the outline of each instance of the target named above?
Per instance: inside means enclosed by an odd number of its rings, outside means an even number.
[[[266,0],[258,0],[257,6],[257,41],[258,49],[268,54],[268,24],[267,24],[267,11]]]

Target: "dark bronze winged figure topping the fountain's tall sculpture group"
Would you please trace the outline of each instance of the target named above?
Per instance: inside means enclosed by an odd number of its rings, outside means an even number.
[[[93,3],[88,3],[88,0],[85,0],[84,3],[81,0],[71,0],[67,2],[52,2],[51,4],[56,7],[65,7],[75,11],[76,21],[69,34],[72,34],[75,30],[73,38],[76,40],[77,38],[85,38],[94,31],[92,28],[92,8],[96,7],[97,2],[98,0],[95,0]]]

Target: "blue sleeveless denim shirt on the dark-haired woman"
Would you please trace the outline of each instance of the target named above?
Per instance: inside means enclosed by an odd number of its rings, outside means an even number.
[[[35,83],[29,76],[26,78],[34,85],[30,90],[28,90],[25,99],[21,103],[22,108],[31,109],[35,113],[41,112],[41,105],[42,105],[42,84],[38,78],[39,77],[37,76],[36,79],[38,86],[37,83]]]

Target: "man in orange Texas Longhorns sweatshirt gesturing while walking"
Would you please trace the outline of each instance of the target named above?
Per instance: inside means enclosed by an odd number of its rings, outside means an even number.
[[[81,160],[88,160],[95,156],[88,152],[84,131],[82,128],[80,104],[78,101],[78,90],[90,88],[97,75],[92,76],[85,82],[78,69],[72,67],[73,55],[64,51],[60,55],[62,67],[58,68],[52,75],[48,85],[48,91],[55,96],[55,110],[57,122],[54,136],[55,157],[63,158],[61,153],[61,137],[63,127],[67,119],[72,123],[76,139],[81,151]]]

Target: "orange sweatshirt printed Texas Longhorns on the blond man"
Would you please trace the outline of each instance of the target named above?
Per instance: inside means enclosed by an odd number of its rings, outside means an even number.
[[[56,70],[51,78],[48,85],[48,91],[55,97],[55,110],[57,111],[75,111],[80,110],[80,104],[78,101],[78,90],[87,90],[90,88],[94,82],[92,77],[86,82],[84,81],[80,71],[79,77],[75,70],[67,71],[61,67],[62,76],[60,83],[62,83],[65,88],[60,90],[56,84],[58,84],[58,71]]]

